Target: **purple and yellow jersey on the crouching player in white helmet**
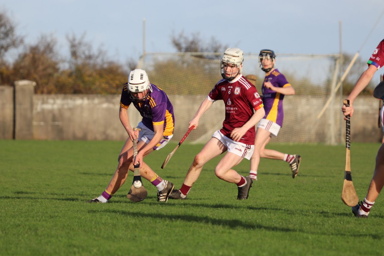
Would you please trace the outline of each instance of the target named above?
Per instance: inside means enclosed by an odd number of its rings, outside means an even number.
[[[164,135],[169,136],[173,134],[175,126],[175,116],[173,113],[173,106],[170,103],[166,93],[156,85],[152,85],[152,92],[149,93],[144,101],[132,100],[131,93],[128,90],[128,83],[126,83],[121,92],[120,106],[128,108],[132,103],[142,116],[142,123],[151,131],[154,131],[154,125],[164,125]]]

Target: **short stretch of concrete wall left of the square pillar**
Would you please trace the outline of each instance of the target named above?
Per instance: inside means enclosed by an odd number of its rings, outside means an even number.
[[[0,86],[0,139],[13,139],[13,86]]]

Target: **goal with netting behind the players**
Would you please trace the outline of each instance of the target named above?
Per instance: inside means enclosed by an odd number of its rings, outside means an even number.
[[[175,133],[178,141],[188,130],[200,103],[222,77],[222,53],[145,53],[137,68],[147,71],[149,81],[166,91],[174,106]],[[339,54],[276,54],[276,68],[284,74],[296,91],[283,100],[284,121],[279,135],[272,142],[280,143],[339,143],[343,120],[341,104],[332,95],[339,75]],[[255,86],[260,94],[264,80],[258,64],[258,53],[245,53],[243,75],[256,75]],[[317,119],[329,98],[328,108]],[[214,131],[222,127],[225,110],[222,101],[215,102],[204,113],[199,127],[188,140],[205,143]]]

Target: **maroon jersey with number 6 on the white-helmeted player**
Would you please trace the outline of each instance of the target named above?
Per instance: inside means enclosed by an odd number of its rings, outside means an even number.
[[[234,128],[240,128],[253,115],[253,110],[263,107],[263,101],[252,85],[243,75],[232,81],[222,79],[208,95],[210,101],[223,100],[225,103],[225,120],[220,132],[231,138]],[[232,138],[231,138],[232,139]],[[241,143],[255,144],[255,127],[250,128],[240,139]]]

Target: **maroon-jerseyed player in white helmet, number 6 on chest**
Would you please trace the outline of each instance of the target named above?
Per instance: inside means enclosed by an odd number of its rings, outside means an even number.
[[[189,122],[189,127],[195,126],[194,129],[196,129],[205,111],[215,101],[223,100],[225,103],[223,128],[216,131],[200,153],[195,156],[182,187],[180,190],[173,190],[169,198],[185,199],[190,188],[199,178],[204,164],[225,151],[227,153],[216,166],[215,174],[224,181],[237,184],[237,199],[248,198],[252,179],[241,176],[232,168],[243,158],[249,160],[252,156],[255,125],[263,118],[265,111],[255,86],[242,75],[242,67],[243,51],[239,48],[228,48],[221,58],[223,79],[218,81]]]

